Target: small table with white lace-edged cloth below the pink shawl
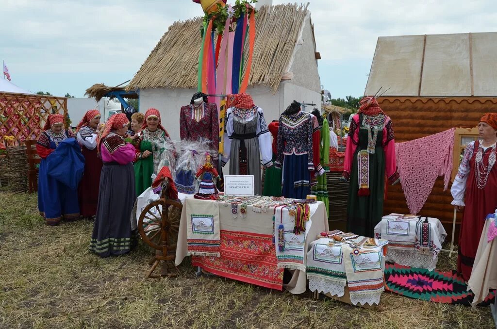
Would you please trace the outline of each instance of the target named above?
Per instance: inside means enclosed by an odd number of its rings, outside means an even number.
[[[436,218],[390,214],[376,225],[376,239],[388,240],[387,261],[435,269],[447,233]]]

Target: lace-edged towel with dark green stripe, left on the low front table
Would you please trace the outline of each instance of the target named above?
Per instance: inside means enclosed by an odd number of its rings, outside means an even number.
[[[307,253],[306,274],[309,290],[343,296],[347,275],[341,244],[329,238],[313,241]]]

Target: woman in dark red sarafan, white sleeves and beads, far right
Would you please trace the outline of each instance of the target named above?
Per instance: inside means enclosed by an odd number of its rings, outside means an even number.
[[[479,140],[468,144],[450,189],[452,204],[464,211],[459,231],[457,270],[469,280],[485,218],[497,208],[497,113],[478,123]]]

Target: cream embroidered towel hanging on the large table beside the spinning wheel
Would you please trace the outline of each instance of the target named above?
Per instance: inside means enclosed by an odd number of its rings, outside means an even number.
[[[186,202],[187,255],[220,257],[219,203]]]

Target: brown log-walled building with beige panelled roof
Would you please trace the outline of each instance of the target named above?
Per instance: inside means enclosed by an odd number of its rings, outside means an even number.
[[[378,102],[392,118],[396,142],[405,142],[475,127],[485,112],[496,112],[496,76],[497,32],[380,37],[365,94],[390,88]],[[420,212],[440,219],[449,235],[451,201],[438,178]],[[384,213],[392,212],[409,213],[400,184],[388,187]]]

